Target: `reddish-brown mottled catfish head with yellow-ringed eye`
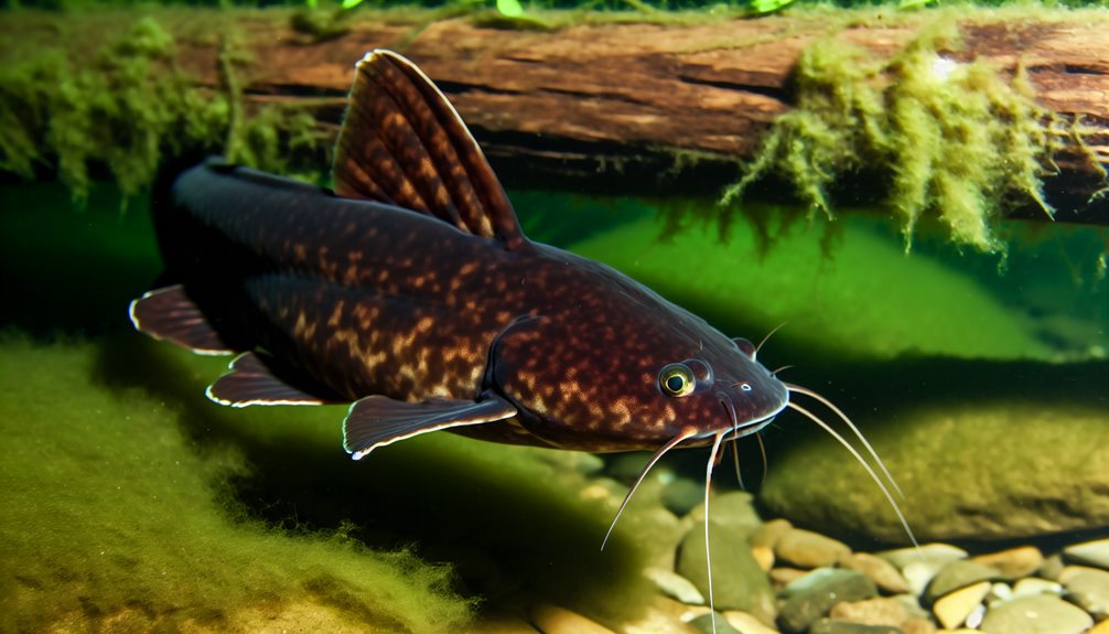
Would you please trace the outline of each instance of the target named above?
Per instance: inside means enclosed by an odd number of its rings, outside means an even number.
[[[706,444],[725,429],[754,433],[788,400],[754,346],[675,306],[582,308],[520,323],[491,358],[496,391],[551,444],[645,450],[679,434]]]

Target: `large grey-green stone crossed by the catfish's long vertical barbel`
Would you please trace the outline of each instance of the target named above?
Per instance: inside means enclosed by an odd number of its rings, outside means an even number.
[[[710,526],[712,587],[716,610],[743,610],[764,621],[774,620],[774,591],[766,573],[751,555],[746,540]],[[678,574],[693,582],[705,599],[709,577],[705,567],[704,523],[694,524],[678,549]]]

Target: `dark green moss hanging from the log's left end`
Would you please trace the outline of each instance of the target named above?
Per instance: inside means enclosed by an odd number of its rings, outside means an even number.
[[[223,92],[197,86],[179,67],[173,38],[149,17],[91,60],[45,50],[6,67],[0,170],[31,177],[57,165],[83,204],[100,170],[126,200],[176,155],[234,150],[240,162],[281,170],[294,145],[318,143],[303,111],[266,106],[246,116],[241,91],[223,76]]]

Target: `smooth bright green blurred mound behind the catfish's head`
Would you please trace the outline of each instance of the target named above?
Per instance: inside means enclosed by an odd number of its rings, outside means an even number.
[[[650,218],[570,248],[623,270],[730,335],[756,337],[787,323],[775,346],[803,346],[807,354],[1056,356],[967,276],[924,254],[906,257],[874,223],[844,218],[836,225],[832,258],[826,234],[798,225],[777,233],[776,248],[767,253],[763,236],[747,224],[733,226],[723,244],[706,226],[660,239]],[[684,275],[675,275],[675,263]]]

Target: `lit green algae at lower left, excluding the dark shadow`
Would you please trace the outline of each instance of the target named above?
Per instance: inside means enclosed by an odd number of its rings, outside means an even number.
[[[197,450],[172,423],[180,412],[141,390],[98,388],[94,346],[9,339],[0,356],[4,631],[71,614],[103,626],[128,611],[161,630],[217,626],[296,600],[383,632],[469,620],[445,566],[242,517],[220,491],[248,469],[243,456]]]

